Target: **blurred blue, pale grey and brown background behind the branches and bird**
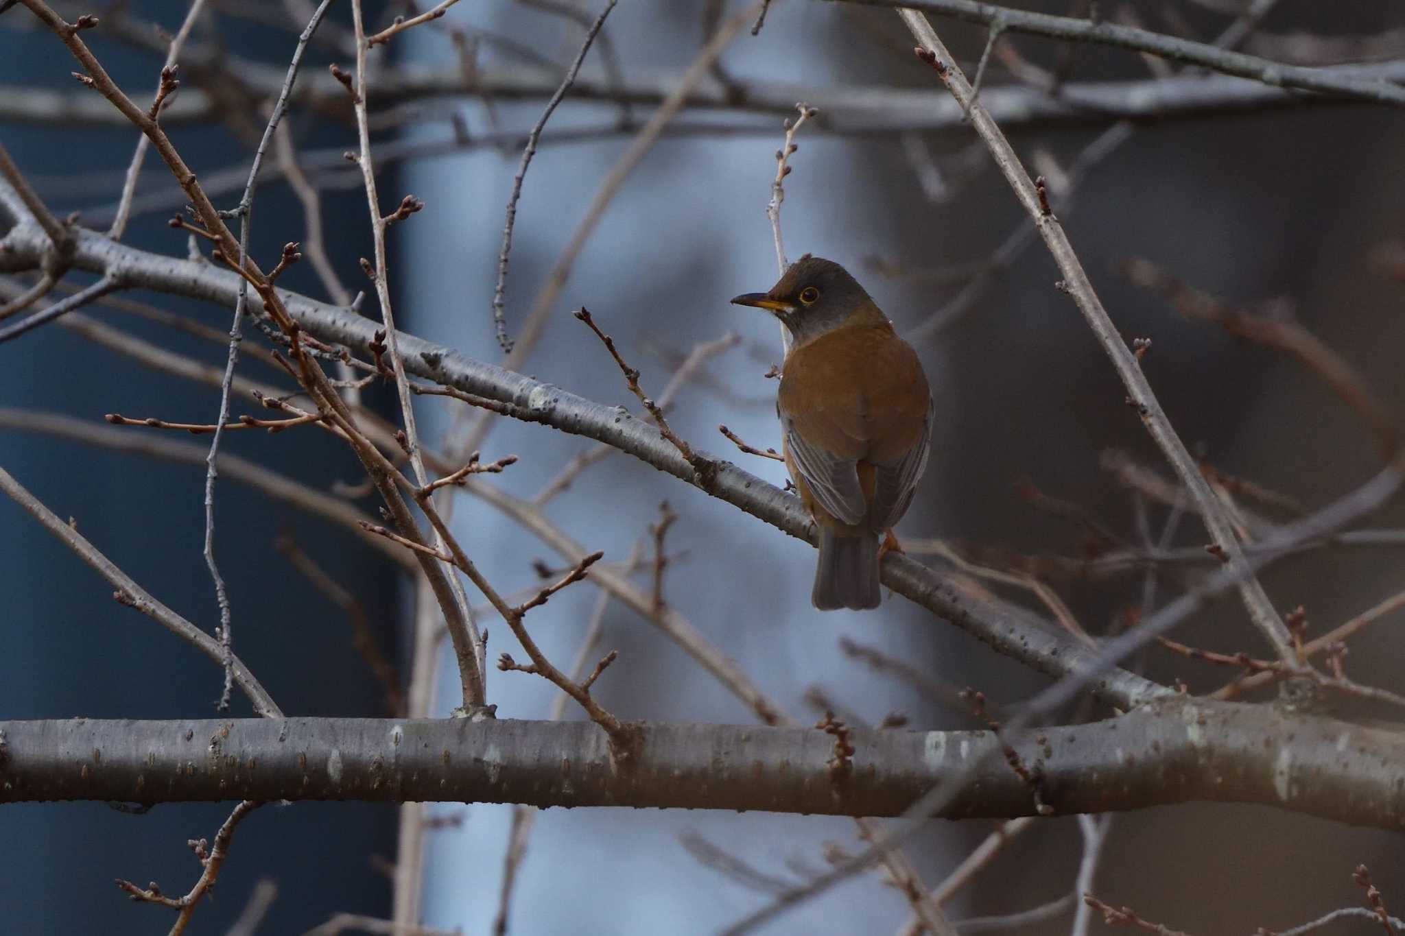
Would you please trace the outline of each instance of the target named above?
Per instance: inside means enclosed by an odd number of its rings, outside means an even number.
[[[398,36],[375,74],[433,69],[452,76],[469,62],[483,74],[523,74],[541,87],[542,76],[559,77],[580,46],[582,22],[603,6],[593,0],[458,4],[443,20]],[[1087,13],[1078,0],[1072,10],[1064,1],[1024,6]],[[1236,0],[1100,4],[1109,18],[1130,17],[1158,32],[1203,41],[1220,35],[1245,6]],[[1245,44],[1257,55],[1318,65],[1405,53],[1405,10],[1394,4],[1257,6],[1272,7]],[[559,7],[579,17],[561,15]],[[142,35],[150,35],[152,22],[174,32],[188,7],[59,8],[69,18],[96,11],[112,27],[86,38],[114,79],[133,98],[146,100],[160,60],[132,35],[143,28]],[[673,81],[719,17],[742,8],[735,1],[621,3],[601,32],[608,48],[597,42],[590,51],[582,84],[613,81],[610,62],[627,81]],[[306,13],[298,3],[211,3],[190,46],[230,59],[223,72],[187,70],[183,80],[212,91],[230,76],[237,79],[230,62],[282,69]],[[381,25],[406,13],[405,4],[368,6],[370,20]],[[126,28],[117,28],[121,24]],[[934,25],[972,73],[985,48],[984,29],[944,20]],[[334,3],[322,31],[326,42],[309,51],[306,76],[323,80],[329,62],[350,69],[334,45],[348,28],[348,4]],[[843,90],[940,90],[910,48],[889,10],[777,0],[760,32],[743,29],[701,88],[717,91],[733,80],[781,97],[795,88],[794,100],[819,108],[797,136],[781,209],[784,243],[792,260],[811,251],[849,267],[899,331],[916,335],[937,424],[927,476],[899,528],[903,539],[919,549],[920,542],[939,539],[972,561],[1035,575],[1089,631],[1114,630],[1141,608],[1145,577],[1141,570],[1107,574],[1096,559],[1141,547],[1141,519],[1156,542],[1180,511],[1156,500],[1156,486],[1130,486],[1127,472],[1109,466],[1130,460],[1168,484],[1173,476],[1124,404],[1125,392],[1076,307],[1054,289],[1058,272],[1037,240],[1003,251],[1005,262],[992,264],[1023,215],[969,128],[912,132],[889,122],[857,133],[826,123],[826,97]],[[985,86],[1027,81],[1035,69],[1071,86],[1146,81],[1159,76],[1159,67],[1125,51],[1006,35],[991,56]],[[73,69],[60,44],[34,28],[28,11],[0,14],[0,97],[20,94],[21,87],[84,94],[67,74]],[[239,90],[237,80],[230,84]],[[237,93],[230,100],[222,119],[173,128],[202,178],[226,168],[242,178],[247,171],[249,132],[261,129],[263,105]],[[628,107],[568,95],[552,116],[517,208],[506,289],[511,334],[520,333],[601,180],[656,102],[658,95]],[[392,229],[391,285],[402,328],[478,359],[502,359],[490,303],[503,210],[521,135],[544,104],[540,93],[499,93],[375,108],[384,118],[377,139],[410,154],[388,163],[382,210],[407,192],[426,202],[423,212]],[[105,229],[135,131],[34,114],[21,119],[20,109],[0,107],[8,115],[0,122],[0,139],[11,156],[55,212],[80,210],[81,223]],[[346,109],[294,108],[289,121],[322,189],[329,255],[355,292],[367,288],[357,258],[371,255],[371,239],[360,175],[337,156],[355,149],[347,116]],[[694,345],[735,333],[736,347],[707,361],[680,392],[670,420],[690,442],[776,484],[784,480],[781,466],[736,452],[717,425],[725,422],[752,445],[778,446],[776,383],[764,376],[781,356],[776,326],[726,300],[767,289],[777,275],[764,208],[783,116],[759,108],[686,108],[676,122],[686,132],[666,131],[599,219],[549,306],[540,345],[521,365],[525,373],[589,399],[635,408],[617,368],[570,317],[572,309],[592,310],[655,394]],[[1405,401],[1398,352],[1405,340],[1399,316],[1405,178],[1398,157],[1405,119],[1387,107],[1316,100],[1253,112],[1149,115],[1114,131],[1116,123],[1089,111],[1078,119],[1012,129],[1010,138],[1024,161],[1050,180],[1055,210],[1123,334],[1152,340],[1144,368],[1182,438],[1222,476],[1279,495],[1256,498],[1242,486],[1234,488],[1243,515],[1257,518],[1260,530],[1363,483],[1381,466]],[[1100,150],[1090,152],[1093,143]],[[318,154],[326,153],[336,161],[319,163]],[[1075,167],[1094,161],[1068,178]],[[235,201],[237,189],[216,198],[221,205]],[[184,254],[184,237],[166,226],[181,203],[164,167],[149,156],[138,188],[140,212],[125,240]],[[303,232],[292,189],[270,178],[254,212],[253,254],[271,262],[282,243],[302,240]],[[1130,268],[1132,260],[1146,262]],[[309,267],[294,267],[281,285],[329,299]],[[1155,281],[1155,288],[1138,279]],[[155,293],[132,297],[212,328],[229,326],[225,309]],[[1197,309],[1198,317],[1183,314]],[[374,295],[362,310],[377,316]],[[131,312],[87,313],[181,354],[223,361],[218,344]],[[1316,335],[1368,389],[1375,422],[1361,415],[1371,406],[1345,401],[1314,366],[1207,320],[1217,313],[1221,319],[1249,313],[1277,323],[1280,331],[1301,327]],[[256,342],[266,340],[251,333],[247,344]],[[1314,361],[1321,359],[1309,365]],[[118,359],[65,328],[48,327],[0,348],[0,365],[6,411],[66,414],[101,425],[101,415],[111,411],[208,422],[218,407],[214,390]],[[240,373],[277,377],[257,361],[242,363]],[[365,401],[395,415],[391,387],[370,389]],[[462,431],[457,401],[422,399],[417,406],[424,438]],[[243,411],[247,406],[236,404],[235,413]],[[13,422],[0,421],[0,464],[60,516],[72,515],[86,536],[162,601],[212,629],[215,598],[201,557],[202,464],[119,453],[20,431]],[[530,500],[593,445],[502,421],[482,442],[482,455],[485,460],[520,456],[489,481]],[[222,448],[320,490],[360,481],[355,460],[326,434],[237,432],[225,436]],[[1175,486],[1169,490],[1175,501]],[[933,681],[974,686],[995,704],[1016,703],[1045,685],[901,598],[870,613],[813,612],[808,546],[634,459],[611,456],[586,469],[542,509],[587,549],[624,561],[636,542],[652,543],[649,528],[659,522],[663,501],[677,515],[666,539],[669,603],[801,721],[822,714],[818,690],[853,720],[877,723],[901,711],[915,728],[974,727],[968,714],[937,706],[850,658],[840,647],[844,639],[905,660]],[[372,498],[354,502],[374,511]],[[1391,507],[1367,523],[1392,528],[1405,521],[1399,514]],[[385,714],[384,692],[353,647],[346,613],[292,567],[277,542],[291,535],[351,589],[402,675],[410,668],[410,582],[344,529],[235,481],[221,481],[216,516],[235,646],[274,699],[288,714]],[[454,528],[504,592],[538,587],[534,563],[561,566],[547,544],[485,502],[461,497]],[[1203,543],[1198,521],[1186,516],[1166,544]],[[951,566],[939,554],[926,559]],[[1399,560],[1390,547],[1315,550],[1277,564],[1264,585],[1280,610],[1304,606],[1311,636],[1405,588]],[[214,714],[218,669],[152,622],[115,606],[104,582],[8,501],[0,502],[0,568],[4,717]],[[1163,570],[1154,606],[1203,568]],[[649,570],[638,573],[638,581],[648,589]],[[1026,591],[984,587],[1047,610]],[[592,588],[575,587],[532,612],[532,633],[552,660],[570,660],[596,603]],[[516,650],[500,622],[483,623],[492,631],[490,658]],[[1392,623],[1385,620],[1353,643],[1347,658],[1353,678],[1401,688],[1392,662],[1401,640]],[[620,660],[601,676],[596,695],[620,717],[753,720],[628,609],[608,605],[603,627],[601,650],[618,648]],[[1264,650],[1234,599],[1196,617],[1177,639],[1224,653]],[[440,662],[434,716],[447,714],[458,700],[447,648]],[[1213,689],[1232,675],[1162,650],[1145,654],[1141,665],[1149,676],[1180,678],[1191,690]],[[552,689],[534,676],[492,671],[489,699],[499,717],[541,718]],[[235,713],[249,714],[247,703],[236,697]],[[1104,714],[1083,707],[1069,718]],[[155,880],[169,892],[184,891],[198,866],[183,842],[212,836],[226,814],[219,804],[159,805],[145,815],[91,803],[0,810],[0,838],[11,843],[0,850],[0,907],[8,926],[13,932],[160,930],[169,925],[166,911],[128,905],[111,878]],[[438,804],[430,814],[443,821],[427,834],[424,922],[488,932],[497,912],[511,807]],[[260,878],[278,887],[260,932],[302,932],[339,911],[388,916],[396,817],[393,807],[367,804],[299,803],[256,813],[240,828],[218,900],[200,909],[194,932],[223,932]],[[909,849],[926,883],[940,881],[995,825],[933,822]],[[527,843],[511,932],[707,933],[770,898],[754,877],[739,881],[701,863],[680,843],[690,835],[791,881],[823,869],[830,843],[850,853],[861,849],[854,825],[836,818],[549,810],[537,817]],[[1072,888],[1079,855],[1073,820],[1040,821],[961,891],[950,912],[954,918],[1010,914],[1057,900]],[[1394,835],[1270,808],[1158,808],[1116,817],[1096,891],[1191,933],[1283,929],[1357,904],[1360,888],[1350,871],[1363,862],[1388,901],[1392,892],[1405,894],[1399,855]],[[908,915],[901,892],[874,874],[829,891],[766,932],[895,932]],[[1064,933],[1069,919],[1065,912],[1017,932]],[[1332,932],[1367,933],[1373,926],[1352,921]]]

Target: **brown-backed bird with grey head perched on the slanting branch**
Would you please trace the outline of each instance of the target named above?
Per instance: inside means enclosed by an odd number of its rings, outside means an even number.
[[[769,292],[732,299],[770,312],[792,342],[776,415],[801,502],[819,530],[811,603],[864,610],[882,601],[892,526],[927,469],[932,390],[917,352],[849,271],[805,254]]]

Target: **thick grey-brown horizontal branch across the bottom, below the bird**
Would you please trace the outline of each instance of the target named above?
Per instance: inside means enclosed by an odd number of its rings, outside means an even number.
[[[0,801],[371,800],[899,815],[968,765],[946,818],[1035,811],[989,731],[641,724],[627,768],[589,721],[233,718],[0,721]],[[1291,738],[1291,741],[1290,741]],[[1262,803],[1401,831],[1405,735],[1273,706],[1166,699],[1003,735],[1057,814]],[[1110,782],[1116,777],[1116,782]]]

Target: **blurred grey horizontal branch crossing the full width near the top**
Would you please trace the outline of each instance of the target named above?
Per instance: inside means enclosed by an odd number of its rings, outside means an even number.
[[[237,73],[247,79],[250,90],[268,98],[277,95],[281,73],[273,80],[267,66],[250,63],[247,67],[250,69],[247,74]],[[1405,80],[1405,62],[1333,66],[1315,72],[1357,81],[1401,81]],[[344,109],[350,118],[346,88],[330,74],[306,77],[309,79],[306,86],[299,83],[299,88],[294,93],[295,105],[320,108],[325,112]],[[583,76],[572,87],[570,95],[576,101],[658,105],[676,81],[676,74],[631,74],[617,91],[608,81]],[[547,100],[558,84],[559,76],[530,69],[479,72],[476,77],[465,80],[454,70],[417,69],[406,65],[378,74],[374,104],[381,108],[436,97]],[[805,101],[819,109],[813,123],[822,132],[946,131],[965,126],[961,108],[950,95],[926,88],[891,86],[816,88],[739,79],[731,88],[715,81],[702,84],[687,95],[684,107],[792,114],[795,101]],[[1059,87],[1058,97],[1019,84],[985,87],[981,90],[981,102],[1000,126],[1016,129],[1050,123],[1106,122],[1124,116],[1154,119],[1280,105],[1340,105],[1354,101],[1295,94],[1234,76],[1177,76],[1135,81],[1071,81]],[[219,112],[219,104],[200,88],[181,88],[180,97],[162,112],[162,125],[214,121]],[[0,84],[0,121],[65,126],[126,125],[121,114],[91,91],[83,88],[59,91],[13,84]]]

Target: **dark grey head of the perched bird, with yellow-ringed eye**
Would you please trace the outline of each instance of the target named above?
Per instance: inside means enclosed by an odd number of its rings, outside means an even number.
[[[791,264],[769,292],[742,293],[732,303],[766,309],[790,330],[795,344],[853,324],[854,316],[877,316],[887,321],[847,269],[809,254]]]

